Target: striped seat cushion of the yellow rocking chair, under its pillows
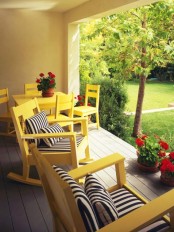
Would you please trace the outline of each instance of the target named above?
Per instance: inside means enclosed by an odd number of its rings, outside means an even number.
[[[83,136],[77,135],[76,136],[76,142],[77,142],[77,147],[80,145],[82,140],[84,139]],[[47,152],[47,151],[71,151],[71,145],[70,145],[70,139],[69,138],[63,138],[60,141],[56,142],[52,147],[49,147],[45,143],[42,143],[38,146],[38,150],[42,152]]]

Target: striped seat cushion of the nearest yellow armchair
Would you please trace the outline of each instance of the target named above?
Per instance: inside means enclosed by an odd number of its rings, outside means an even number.
[[[125,188],[121,188],[110,193],[112,200],[117,208],[118,217],[122,217],[125,214],[135,210],[144,205],[142,201],[137,199],[132,193],[130,193]],[[143,216],[143,215],[142,215]],[[140,230],[141,232],[162,232],[169,228],[169,224],[163,219],[158,220],[149,226],[146,226],[144,229]]]

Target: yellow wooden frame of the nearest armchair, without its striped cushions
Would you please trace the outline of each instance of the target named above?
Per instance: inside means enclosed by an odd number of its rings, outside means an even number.
[[[34,155],[36,167],[52,211],[55,231],[85,232],[85,223],[82,220],[77,202],[75,201],[75,196],[73,195],[75,184],[73,183],[73,188],[71,188],[70,184],[65,181],[65,179],[68,180],[65,174],[63,174],[65,176],[64,179],[62,179],[60,175],[57,175],[55,172],[56,169],[53,170],[53,167],[41,156],[40,152],[33,144],[31,145],[31,152]],[[97,231],[148,231],[149,226],[156,229],[155,231],[160,231],[157,225],[163,226],[162,231],[174,231],[174,190],[157,197],[151,202],[147,202],[146,199],[140,196],[126,183],[124,158],[120,154],[115,153],[87,164],[86,166],[73,169],[68,172],[69,179],[73,178],[74,180],[78,180],[88,175],[88,173],[95,173],[112,165],[115,167],[116,182],[114,186],[108,189],[110,195],[112,195],[114,191],[125,189],[125,191],[128,191],[131,195],[129,197],[128,194],[126,197],[126,201],[128,202],[127,210],[132,198],[135,198],[135,201],[142,202],[143,206],[137,207],[133,211],[128,210],[129,213],[125,216],[119,217],[117,220],[102,228],[98,228]],[[75,194],[77,194],[77,192]],[[125,204],[126,203],[124,203],[123,207],[125,207]],[[165,216],[167,213],[169,213],[170,218]],[[159,221],[156,221],[157,219],[159,219]]]

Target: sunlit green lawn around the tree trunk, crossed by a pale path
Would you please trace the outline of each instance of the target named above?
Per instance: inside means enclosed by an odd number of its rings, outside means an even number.
[[[127,109],[135,111],[137,92],[137,82],[128,82],[129,102]],[[143,110],[166,108],[168,103],[174,102],[174,85],[171,83],[148,82],[146,84]],[[129,134],[133,129],[134,116],[130,116]],[[165,139],[171,150],[174,150],[174,110],[149,113],[142,115],[142,132],[144,134],[157,134]],[[134,138],[129,137],[126,141],[135,146]]]

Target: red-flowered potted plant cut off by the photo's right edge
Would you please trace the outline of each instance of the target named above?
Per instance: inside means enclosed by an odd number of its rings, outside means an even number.
[[[174,152],[166,154],[160,162],[160,179],[163,183],[174,186]]]

